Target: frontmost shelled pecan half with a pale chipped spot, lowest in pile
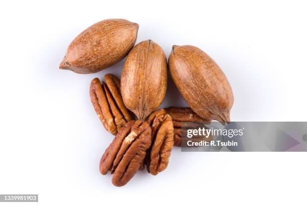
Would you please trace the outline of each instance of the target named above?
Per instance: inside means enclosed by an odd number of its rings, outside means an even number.
[[[151,144],[147,122],[130,121],[120,129],[100,160],[100,172],[113,174],[115,186],[125,185],[137,172]]]

